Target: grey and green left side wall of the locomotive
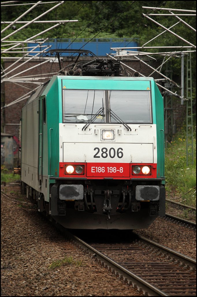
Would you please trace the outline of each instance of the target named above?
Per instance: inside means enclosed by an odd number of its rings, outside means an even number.
[[[57,83],[53,77],[22,108],[21,192],[38,203],[39,211],[43,211],[44,201],[49,202],[51,161],[59,160],[59,149],[51,152],[52,142],[59,141],[61,95]],[[46,211],[49,212],[48,204]]]

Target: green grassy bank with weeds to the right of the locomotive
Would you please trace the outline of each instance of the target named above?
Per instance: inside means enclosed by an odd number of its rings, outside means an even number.
[[[194,129],[195,131],[195,129]],[[186,165],[186,127],[183,126],[165,149],[167,198],[196,207],[196,135],[193,137],[194,162]],[[190,147],[191,150],[191,147]]]

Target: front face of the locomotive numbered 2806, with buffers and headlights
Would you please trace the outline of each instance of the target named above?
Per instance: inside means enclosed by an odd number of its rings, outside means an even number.
[[[163,98],[154,79],[57,78],[50,214],[66,228],[147,228],[165,215]]]

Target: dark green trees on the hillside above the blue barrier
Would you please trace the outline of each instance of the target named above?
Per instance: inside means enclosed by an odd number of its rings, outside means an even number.
[[[8,20],[15,20],[16,17],[27,11],[30,6],[25,5],[29,1],[23,1],[23,6],[2,6],[1,7],[1,20],[4,22]],[[56,3],[58,4],[58,3]],[[35,9],[31,10],[22,20],[30,21],[46,12],[56,4],[47,1],[46,4],[39,4]],[[143,9],[143,6],[161,7],[161,8],[175,8],[185,9],[185,1],[64,1],[63,4],[57,6],[46,15],[41,17],[41,20],[78,20],[74,23],[66,23],[65,25],[57,26],[56,28],[46,32],[44,37],[49,38],[92,38],[96,34],[97,38],[106,37],[136,37],[140,42],[147,41],[158,35],[159,31],[163,31],[157,24],[151,22],[142,16],[142,13],[155,13],[154,11]],[[187,9],[196,10],[196,1],[187,1]],[[8,19],[9,15],[9,19]],[[40,20],[40,18],[38,19]],[[154,17],[154,20],[161,21],[161,17]],[[190,26],[195,27],[195,17],[185,16],[184,21],[188,22]],[[175,20],[171,17],[165,18],[165,26],[169,28]],[[24,24],[16,24],[16,30]],[[1,24],[2,29],[6,24]],[[52,25],[51,25],[52,26]],[[28,37],[37,34],[49,28],[49,24],[33,23],[26,26],[21,31],[13,35],[16,40],[25,40]],[[187,27],[183,30],[183,24],[177,24],[176,33],[180,34],[183,38],[188,38]],[[2,37],[13,32],[7,29],[3,32]],[[151,34],[151,35],[150,35]],[[193,37],[191,36],[193,34]],[[195,39],[195,32],[190,31],[190,38]],[[10,37],[10,40],[13,38]],[[43,36],[40,36],[43,37]],[[38,37],[39,38],[39,37]],[[171,38],[178,39],[171,35]],[[172,40],[167,37],[161,37],[161,42],[167,45],[171,44]],[[160,42],[160,40],[156,41]],[[190,40],[191,42],[191,40]],[[180,41],[182,43],[182,41]],[[153,44],[152,44],[153,45]]]

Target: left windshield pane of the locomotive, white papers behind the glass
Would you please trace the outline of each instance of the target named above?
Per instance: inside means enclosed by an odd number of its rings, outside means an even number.
[[[64,123],[87,123],[96,115],[94,122],[105,122],[104,91],[100,90],[63,90]],[[104,108],[104,109],[102,109]]]

